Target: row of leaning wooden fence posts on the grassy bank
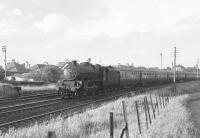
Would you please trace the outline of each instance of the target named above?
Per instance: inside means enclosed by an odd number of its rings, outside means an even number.
[[[157,92],[154,94],[149,94],[144,96],[141,100],[138,101],[134,101],[134,108],[136,111],[136,114],[134,114],[134,116],[136,116],[137,118],[137,126],[138,126],[138,132],[139,134],[142,134],[142,132],[144,132],[145,130],[144,127],[142,128],[142,112],[144,112],[144,116],[145,116],[145,127],[146,130],[148,130],[151,127],[151,124],[153,122],[153,120],[155,120],[159,115],[160,115],[160,111],[164,108],[167,107],[167,105],[169,104],[170,100],[177,96],[180,95],[180,93],[177,91],[176,86],[173,86],[172,88],[169,89],[168,92]],[[123,109],[123,119],[124,119],[124,127],[121,131],[121,135],[120,138],[123,138],[124,135],[126,135],[126,138],[130,138],[129,136],[129,123],[128,122],[128,116],[127,116],[127,106],[126,106],[126,102],[122,101],[122,109]],[[134,112],[135,113],[135,112]],[[114,113],[110,112],[109,113],[109,117],[110,117],[110,138],[114,138]],[[144,124],[143,124],[144,125]],[[49,131],[47,134],[47,138],[57,138],[56,134],[54,131]]]

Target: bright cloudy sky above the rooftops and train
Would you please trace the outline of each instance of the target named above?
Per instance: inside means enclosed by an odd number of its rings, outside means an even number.
[[[0,45],[8,61],[65,59],[105,65],[194,66],[200,57],[199,0],[0,0]],[[0,64],[3,53],[0,51]]]

